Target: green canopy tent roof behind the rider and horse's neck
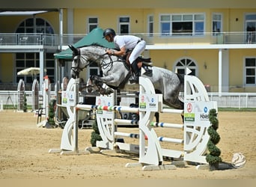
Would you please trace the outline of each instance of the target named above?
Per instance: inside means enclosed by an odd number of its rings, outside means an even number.
[[[76,48],[82,47],[82,46],[90,46],[93,43],[97,43],[100,46],[105,46],[108,48],[115,48],[114,43],[109,43],[105,38],[103,38],[103,29],[102,28],[94,28],[88,35],[83,37],[81,40],[79,40],[77,43],[74,43],[73,46]],[[71,49],[66,49],[62,52],[55,53],[55,58],[61,58],[61,59],[71,59],[72,58],[72,51]]]

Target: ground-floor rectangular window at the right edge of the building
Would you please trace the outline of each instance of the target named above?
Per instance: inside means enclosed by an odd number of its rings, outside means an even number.
[[[256,58],[246,58],[246,85],[256,85]]]

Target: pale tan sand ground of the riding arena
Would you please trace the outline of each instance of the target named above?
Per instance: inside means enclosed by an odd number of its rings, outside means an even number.
[[[246,156],[243,168],[223,171],[197,170],[195,165],[170,171],[142,171],[125,168],[138,162],[138,156],[121,153],[62,156],[48,153],[59,148],[63,129],[36,126],[34,113],[0,111],[0,179],[255,179],[256,178],[256,112],[219,111],[217,147],[222,160],[231,163],[234,153]],[[175,114],[160,114],[160,121],[180,123]],[[118,128],[121,132],[138,133],[138,128]],[[79,129],[79,150],[90,147],[92,129]],[[162,136],[182,138],[182,132],[157,128]],[[130,141],[130,140],[125,140]],[[134,142],[133,142],[134,143]],[[169,147],[170,144],[162,144]],[[179,145],[174,148],[180,149]],[[169,162],[165,161],[165,164]]]

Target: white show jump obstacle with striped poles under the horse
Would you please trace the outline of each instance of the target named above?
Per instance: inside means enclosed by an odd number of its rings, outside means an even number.
[[[216,102],[210,101],[207,91],[202,82],[195,76],[185,76],[184,83],[184,110],[162,108],[162,94],[156,94],[153,84],[149,79],[140,77],[140,91],[138,96],[138,108],[114,105],[115,96],[99,96],[96,105],[79,105],[78,103],[79,80],[70,79],[67,85],[67,111],[70,116],[64,127],[61,138],[61,149],[49,150],[49,153],[79,153],[78,150],[78,110],[96,110],[97,124],[103,141],[97,141],[97,147],[103,150],[124,150],[127,153],[138,153],[139,165],[144,170],[152,170],[153,166],[165,168],[164,157],[183,159],[183,161],[207,164],[205,155],[207,142],[210,136],[207,128],[210,126],[208,113],[211,108],[216,108]],[[115,119],[116,111],[139,112],[139,121]],[[156,111],[162,113],[176,113],[183,115],[183,124],[159,123],[159,126],[166,128],[182,129],[183,139],[158,137],[154,130],[156,123],[153,117]],[[117,132],[117,124],[138,123],[139,133],[132,134]],[[166,129],[168,130],[168,129]],[[117,142],[117,137],[139,138],[139,144],[126,144]],[[163,149],[159,141],[183,144],[183,150]],[[88,150],[86,150],[88,152]],[[135,163],[128,163],[131,167]]]

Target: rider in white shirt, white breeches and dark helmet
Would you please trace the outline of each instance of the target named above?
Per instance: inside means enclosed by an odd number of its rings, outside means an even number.
[[[135,77],[130,80],[130,82],[138,83],[139,69],[135,60],[146,48],[146,42],[140,38],[133,35],[116,35],[114,29],[106,28],[103,32],[103,38],[105,37],[108,42],[114,42],[115,46],[120,49],[118,52],[112,50],[106,50],[109,55],[123,56],[126,55],[127,50],[132,50],[131,55],[129,55],[129,63],[131,64],[132,71],[135,73]]]

